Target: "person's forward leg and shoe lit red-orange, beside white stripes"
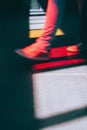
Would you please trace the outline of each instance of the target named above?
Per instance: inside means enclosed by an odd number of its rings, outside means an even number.
[[[16,52],[29,59],[48,59],[48,57],[44,58],[43,55],[48,55],[48,49],[50,48],[55,32],[61,23],[64,6],[65,0],[48,0],[43,34],[36,40],[35,43],[21,50],[16,50]]]

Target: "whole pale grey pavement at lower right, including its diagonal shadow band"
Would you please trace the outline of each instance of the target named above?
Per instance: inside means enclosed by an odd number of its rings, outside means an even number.
[[[87,66],[33,74],[39,130],[87,130]]]

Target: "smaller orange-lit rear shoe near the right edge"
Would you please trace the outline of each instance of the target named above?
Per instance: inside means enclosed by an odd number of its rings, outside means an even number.
[[[84,52],[87,51],[87,46],[83,45],[82,43],[79,43],[77,45],[67,47],[67,51],[75,53]]]

